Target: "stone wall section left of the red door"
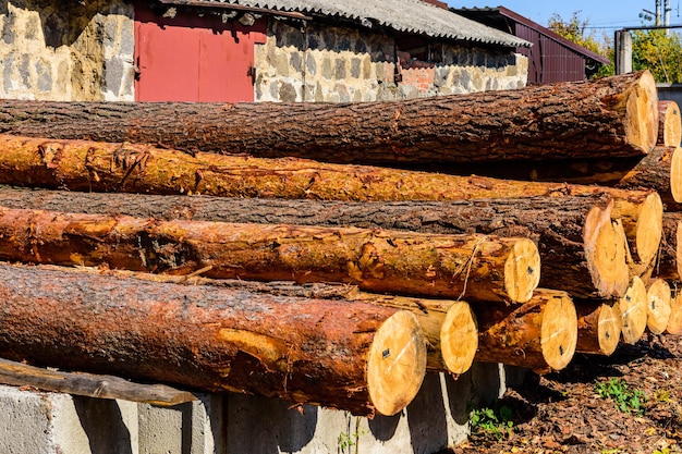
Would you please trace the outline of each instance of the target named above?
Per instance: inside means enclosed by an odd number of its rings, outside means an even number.
[[[0,1],[0,96],[134,100],[133,15],[124,0]]]

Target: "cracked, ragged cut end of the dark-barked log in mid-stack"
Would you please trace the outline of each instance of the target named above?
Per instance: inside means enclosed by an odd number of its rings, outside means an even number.
[[[593,207],[584,228],[585,258],[598,296],[621,297],[628,290],[630,268],[623,225],[611,219],[613,203]]]

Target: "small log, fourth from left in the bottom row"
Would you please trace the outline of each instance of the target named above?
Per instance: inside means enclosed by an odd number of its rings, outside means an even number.
[[[576,352],[609,356],[618,347],[622,330],[620,309],[612,304],[595,300],[576,300]]]

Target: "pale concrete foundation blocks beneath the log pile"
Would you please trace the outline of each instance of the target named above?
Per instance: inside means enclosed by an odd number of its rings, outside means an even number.
[[[374,419],[241,394],[168,408],[0,385],[0,453],[431,454],[466,438],[470,405],[522,373],[484,364],[458,380],[429,373],[401,414]]]

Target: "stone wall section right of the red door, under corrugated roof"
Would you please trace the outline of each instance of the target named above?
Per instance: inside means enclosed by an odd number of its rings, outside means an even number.
[[[434,46],[414,60],[392,38],[352,28],[271,21],[256,47],[259,101],[375,101],[523,87],[527,59],[503,49]]]

